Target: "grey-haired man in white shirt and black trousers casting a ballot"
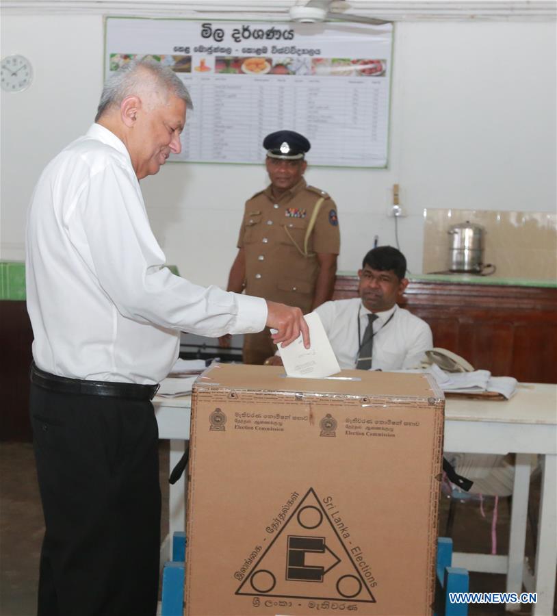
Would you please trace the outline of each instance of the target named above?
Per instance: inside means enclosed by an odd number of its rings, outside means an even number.
[[[164,267],[139,180],[181,150],[190,95],[157,62],[105,84],[95,124],[42,172],[27,220],[30,414],[46,524],[38,615],[153,616],[160,489],[151,399],[182,330],[270,326],[298,308],[203,288]]]

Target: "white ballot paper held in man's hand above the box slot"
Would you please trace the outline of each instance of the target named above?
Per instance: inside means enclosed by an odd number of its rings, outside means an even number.
[[[340,372],[331,343],[325,333],[320,316],[311,312],[304,316],[309,327],[311,346],[305,348],[302,335],[287,347],[278,345],[287,376],[299,378],[324,378]]]

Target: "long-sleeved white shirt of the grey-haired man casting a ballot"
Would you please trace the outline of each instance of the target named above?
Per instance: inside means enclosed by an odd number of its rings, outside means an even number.
[[[262,298],[194,285],[164,267],[125,145],[94,124],[44,169],[27,216],[27,310],[38,368],[152,384],[180,331],[261,331]]]

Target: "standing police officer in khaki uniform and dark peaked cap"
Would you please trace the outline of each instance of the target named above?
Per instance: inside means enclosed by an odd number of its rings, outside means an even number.
[[[270,185],[246,201],[239,251],[228,290],[297,306],[304,313],[331,299],[340,249],[337,207],[330,196],[307,185],[309,141],[294,131],[266,136]],[[221,346],[230,336],[220,337]],[[274,354],[268,329],[244,336],[244,363]]]

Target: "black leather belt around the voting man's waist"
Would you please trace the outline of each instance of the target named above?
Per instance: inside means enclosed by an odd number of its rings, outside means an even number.
[[[131,398],[131,400],[153,400],[160,385],[137,385],[113,381],[82,381],[44,372],[31,363],[31,383],[58,394],[86,394],[88,396],[109,396]]]

